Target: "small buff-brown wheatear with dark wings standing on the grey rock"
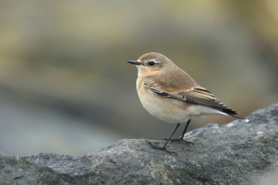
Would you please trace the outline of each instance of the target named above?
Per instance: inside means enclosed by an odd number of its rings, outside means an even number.
[[[136,88],[144,108],[156,118],[176,124],[174,130],[162,147],[147,141],[151,147],[166,150],[171,140],[183,140],[186,129],[192,118],[202,115],[229,115],[238,120],[249,122],[214,97],[208,90],[199,86],[186,72],[179,69],[169,58],[158,53],[140,56],[138,61],[127,61],[138,68]],[[183,134],[179,138],[172,135],[181,125],[187,122]],[[172,139],[171,139],[172,138]],[[193,143],[192,143],[193,144]],[[174,153],[175,152],[170,152]]]

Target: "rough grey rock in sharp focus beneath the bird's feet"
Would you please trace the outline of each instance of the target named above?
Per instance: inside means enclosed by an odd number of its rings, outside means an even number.
[[[78,157],[0,153],[0,184],[251,184],[278,166],[278,104],[249,123],[208,124],[186,134],[168,154],[146,139],[119,140]],[[162,145],[164,141],[153,140]]]

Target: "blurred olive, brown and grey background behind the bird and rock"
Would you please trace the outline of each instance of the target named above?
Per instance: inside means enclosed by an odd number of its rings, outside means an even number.
[[[126,61],[156,51],[247,116],[278,102],[278,1],[0,1],[0,151],[78,156],[161,139]],[[194,119],[189,130],[226,124]],[[175,136],[180,136],[184,124]]]

